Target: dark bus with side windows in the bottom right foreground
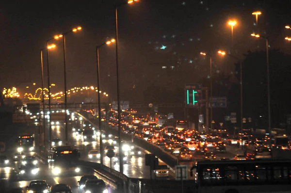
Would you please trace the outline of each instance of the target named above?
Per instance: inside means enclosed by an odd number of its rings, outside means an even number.
[[[197,193],[290,193],[291,160],[201,161],[196,169]]]

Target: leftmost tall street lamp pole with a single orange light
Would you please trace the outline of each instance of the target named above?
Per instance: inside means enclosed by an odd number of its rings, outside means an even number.
[[[41,58],[41,86],[42,86],[42,103],[43,103],[43,129],[44,129],[44,133],[46,133],[46,113],[45,113],[45,93],[44,93],[44,61],[43,61],[43,50],[44,49],[47,49],[47,52],[49,52],[49,49],[52,49],[52,48],[55,48],[56,45],[54,44],[51,44],[51,45],[48,45],[47,48],[42,48],[40,50],[40,58]],[[47,61],[49,61],[49,59],[47,59]],[[50,94],[50,93],[49,93]],[[46,136],[46,134],[45,134]],[[50,130],[50,127],[49,127],[49,148],[51,148],[51,130]],[[46,138],[45,138],[45,150],[46,150]]]

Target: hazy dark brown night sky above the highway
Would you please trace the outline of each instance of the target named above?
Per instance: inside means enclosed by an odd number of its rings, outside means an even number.
[[[103,0],[102,0],[103,1]],[[42,3],[0,4],[0,87],[25,88],[36,82],[40,86],[40,49],[53,35],[81,26],[82,31],[66,36],[67,86],[97,85],[95,47],[115,35],[114,4],[116,0],[97,0],[96,3],[79,1],[44,1]],[[84,4],[83,4],[84,3]],[[291,24],[290,0],[139,0],[118,9],[119,64],[122,95],[136,85],[140,92],[148,81],[158,85],[157,66],[191,66],[203,64],[200,51],[214,57],[215,71],[234,72],[234,61],[216,58],[219,48],[230,50],[229,19],[236,19],[234,28],[235,52],[243,59],[248,50],[264,49],[263,42],[250,36],[259,32],[270,37],[270,48],[291,51],[291,36],[284,28]],[[259,25],[255,26],[253,11],[261,11]],[[57,86],[52,92],[63,89],[63,45],[51,41],[57,48],[49,51],[50,80]],[[161,49],[165,46],[165,49]],[[46,55],[44,56],[46,65]],[[226,63],[226,64],[223,64]],[[203,68],[197,80],[208,76]],[[217,71],[218,70],[218,71]],[[101,90],[116,92],[115,47],[100,49]],[[182,79],[183,74],[171,77]],[[47,72],[45,70],[45,79]],[[189,83],[178,81],[177,87]],[[47,81],[45,81],[47,84]],[[103,87],[103,89],[102,89]],[[24,90],[20,90],[20,93]],[[22,93],[23,94],[23,93]]]

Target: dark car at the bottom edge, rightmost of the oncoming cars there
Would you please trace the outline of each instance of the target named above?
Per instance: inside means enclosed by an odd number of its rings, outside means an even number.
[[[103,179],[88,179],[83,190],[84,193],[108,193]]]

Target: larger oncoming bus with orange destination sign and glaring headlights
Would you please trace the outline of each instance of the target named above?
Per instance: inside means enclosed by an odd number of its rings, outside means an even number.
[[[70,146],[58,146],[53,147],[48,153],[49,169],[53,175],[63,174],[64,172],[80,172],[76,163],[80,158],[77,149],[72,149]]]

